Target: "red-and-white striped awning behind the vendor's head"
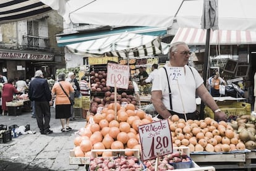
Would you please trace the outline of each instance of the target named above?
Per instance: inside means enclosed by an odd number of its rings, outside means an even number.
[[[179,28],[171,43],[184,41],[189,45],[205,45],[207,30]],[[210,33],[210,44],[255,44],[256,31],[215,30]]]

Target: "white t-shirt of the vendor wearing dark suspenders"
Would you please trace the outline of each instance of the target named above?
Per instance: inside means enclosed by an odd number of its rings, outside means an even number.
[[[164,65],[164,67],[166,67],[168,75],[170,75],[168,65]],[[186,113],[195,112],[197,107],[195,103],[195,91],[203,83],[203,78],[200,76],[197,70],[190,67],[193,71],[192,73],[189,66],[185,65],[184,68],[186,72],[185,83],[179,83],[178,85],[177,83],[170,82],[173,111],[180,114],[184,113],[182,106],[184,106]],[[168,80],[165,70],[163,68],[158,69],[157,76],[158,77],[155,77],[155,80],[153,81],[151,91],[161,90],[163,93],[163,104],[166,109],[170,110]],[[171,81],[170,78],[169,81]]]

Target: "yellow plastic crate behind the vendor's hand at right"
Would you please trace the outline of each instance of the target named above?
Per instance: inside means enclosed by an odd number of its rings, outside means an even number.
[[[221,111],[225,112],[228,116],[240,116],[240,115],[250,115],[251,113],[251,106],[249,103],[246,102],[233,102],[230,105],[220,106]],[[214,119],[214,113],[211,109],[206,106],[205,107],[205,117],[210,117]]]

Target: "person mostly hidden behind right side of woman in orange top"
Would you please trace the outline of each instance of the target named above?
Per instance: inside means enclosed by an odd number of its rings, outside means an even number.
[[[75,78],[75,73],[74,72],[69,72],[68,75],[67,75],[66,81],[68,81],[72,85],[72,87],[74,88],[75,92],[72,92],[72,93],[69,94],[70,99],[72,99],[72,101],[74,101],[75,98],[78,98],[77,94],[80,94],[79,83],[78,83],[77,79]],[[77,93],[77,91],[79,91],[79,93]],[[71,105],[70,110],[71,110],[70,120],[75,120],[74,106],[73,105]]]

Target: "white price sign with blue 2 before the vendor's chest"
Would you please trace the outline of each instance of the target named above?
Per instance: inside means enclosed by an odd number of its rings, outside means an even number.
[[[185,84],[184,67],[169,67],[169,80],[171,84]]]

